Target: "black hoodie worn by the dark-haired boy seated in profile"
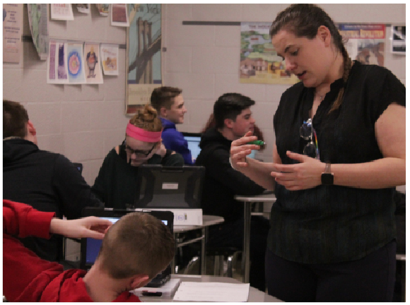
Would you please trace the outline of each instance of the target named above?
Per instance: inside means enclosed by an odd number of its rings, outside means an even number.
[[[218,215],[225,222],[243,217],[243,203],[235,195],[254,196],[264,191],[244,174],[230,166],[231,140],[223,137],[216,128],[210,128],[201,137],[201,152],[195,165],[205,167],[204,189],[201,208],[205,215]]]

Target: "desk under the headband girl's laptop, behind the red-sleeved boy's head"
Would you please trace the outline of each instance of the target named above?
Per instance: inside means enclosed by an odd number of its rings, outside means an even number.
[[[202,215],[202,225],[174,225],[174,238],[177,241],[178,234],[188,232],[195,229],[201,229],[202,236],[196,239],[190,239],[182,243],[177,243],[177,247],[192,244],[201,241],[201,275],[206,273],[206,240],[208,239],[208,227],[211,225],[218,225],[224,222],[223,217],[213,215]],[[171,272],[175,274],[175,256],[171,262]]]

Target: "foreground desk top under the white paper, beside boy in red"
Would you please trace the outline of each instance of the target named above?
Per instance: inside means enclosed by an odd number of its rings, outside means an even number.
[[[172,275],[171,278],[180,278],[182,282],[225,282],[240,284],[240,281],[235,280],[232,277],[216,277],[211,275]],[[209,292],[212,293],[212,292]],[[144,302],[171,302],[170,297],[139,297]],[[249,289],[248,302],[279,302],[281,300],[272,297],[254,287]]]

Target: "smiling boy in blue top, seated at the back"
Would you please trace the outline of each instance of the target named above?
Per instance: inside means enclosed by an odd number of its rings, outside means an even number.
[[[176,124],[184,123],[185,108],[182,90],[172,87],[159,87],[151,94],[151,105],[156,109],[163,123],[163,143],[165,148],[175,150],[184,157],[186,165],[194,164],[191,151],[188,148],[187,140],[180,131],[177,131]]]

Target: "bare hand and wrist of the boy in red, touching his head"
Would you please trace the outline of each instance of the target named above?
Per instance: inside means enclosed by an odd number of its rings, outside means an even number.
[[[85,217],[78,220],[61,220],[53,218],[49,225],[51,234],[60,234],[71,238],[103,239],[106,230],[112,225],[110,220],[99,217]]]

